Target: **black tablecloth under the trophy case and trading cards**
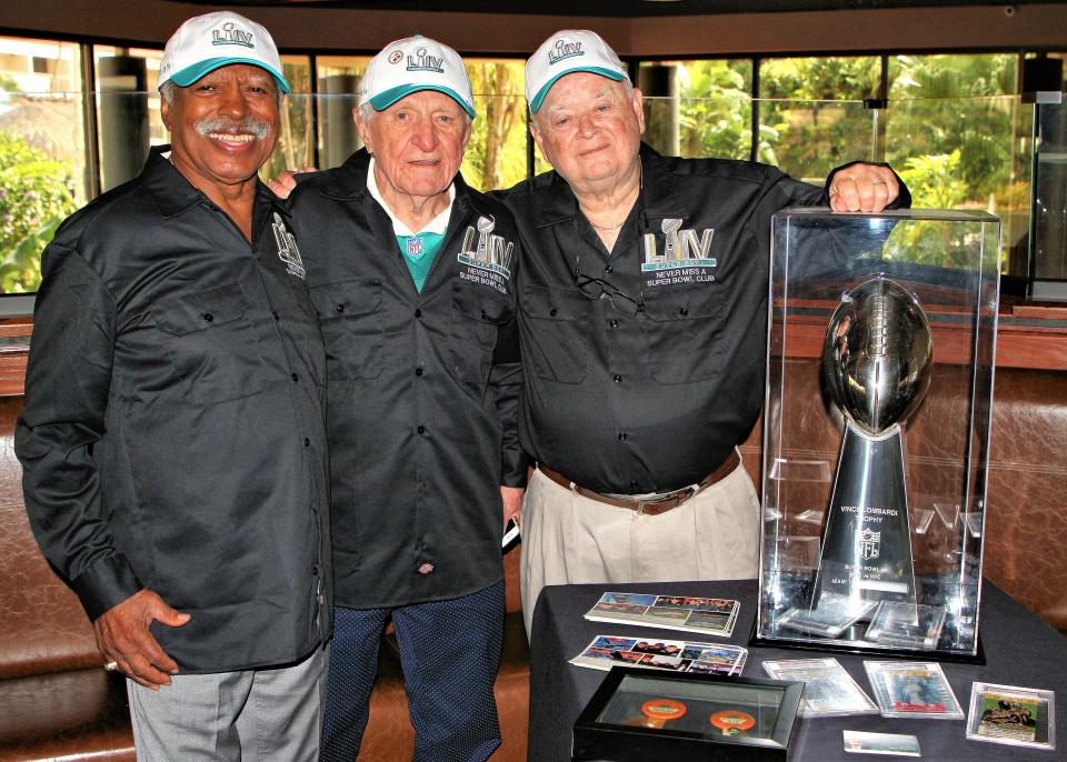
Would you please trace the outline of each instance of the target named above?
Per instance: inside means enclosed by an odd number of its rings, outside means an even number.
[[[600,595],[610,589],[620,592],[698,595],[736,599],[740,613],[728,642],[747,645],[756,618],[756,582],[664,582],[605,585],[557,585],[545,588],[534,612],[534,643],[530,663],[531,762],[570,760],[571,728],[606,672],[575,666],[576,656],[597,634],[655,636],[662,640],[720,642],[681,631],[606,622],[582,618]],[[923,758],[937,760],[1053,760],[1067,759],[1067,638],[1045,624],[988,581],[983,588],[979,624],[986,665],[943,663],[945,674],[964,711],[970,701],[974,681],[1021,685],[1056,691],[1057,749],[1040,751],[998,743],[968,741],[965,720],[888,719],[877,714],[798,720],[789,759],[792,762],[878,759],[848,754],[842,749],[842,730],[906,733],[919,739]],[[766,678],[762,662],[774,659],[836,658],[857,683],[871,695],[864,671],[864,655],[749,648],[746,676]],[[867,659],[881,656],[867,655]],[[933,660],[931,660],[933,661]]]

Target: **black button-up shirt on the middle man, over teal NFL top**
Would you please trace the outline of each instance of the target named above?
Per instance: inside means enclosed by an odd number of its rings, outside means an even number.
[[[367,190],[369,156],[290,197],[329,377],[337,603],[458,598],[502,578],[500,485],[521,485],[517,232],[457,176],[419,292]]]

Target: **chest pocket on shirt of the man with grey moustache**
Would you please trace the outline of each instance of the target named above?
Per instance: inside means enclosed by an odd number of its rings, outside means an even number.
[[[265,391],[263,345],[250,320],[251,302],[239,283],[168,297],[151,313],[163,334],[170,379],[161,389],[197,405]]]

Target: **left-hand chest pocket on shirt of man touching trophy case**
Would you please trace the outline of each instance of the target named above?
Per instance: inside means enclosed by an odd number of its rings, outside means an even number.
[[[588,335],[592,302],[577,289],[529,285],[522,291],[521,309],[529,327],[522,337],[522,362],[549,381],[585,381],[586,358],[592,351]]]

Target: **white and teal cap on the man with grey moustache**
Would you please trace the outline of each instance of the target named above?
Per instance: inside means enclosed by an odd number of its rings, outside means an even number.
[[[167,40],[156,88],[168,81],[188,88],[205,74],[231,63],[266,69],[282,92],[290,92],[270,32],[232,11],[197,16],[181,24]]]

